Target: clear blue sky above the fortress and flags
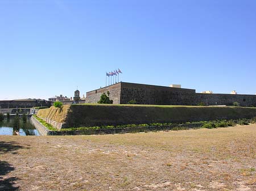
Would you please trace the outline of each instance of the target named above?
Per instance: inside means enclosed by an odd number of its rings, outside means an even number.
[[[255,0],[0,0],[0,99],[123,82],[256,93]]]

